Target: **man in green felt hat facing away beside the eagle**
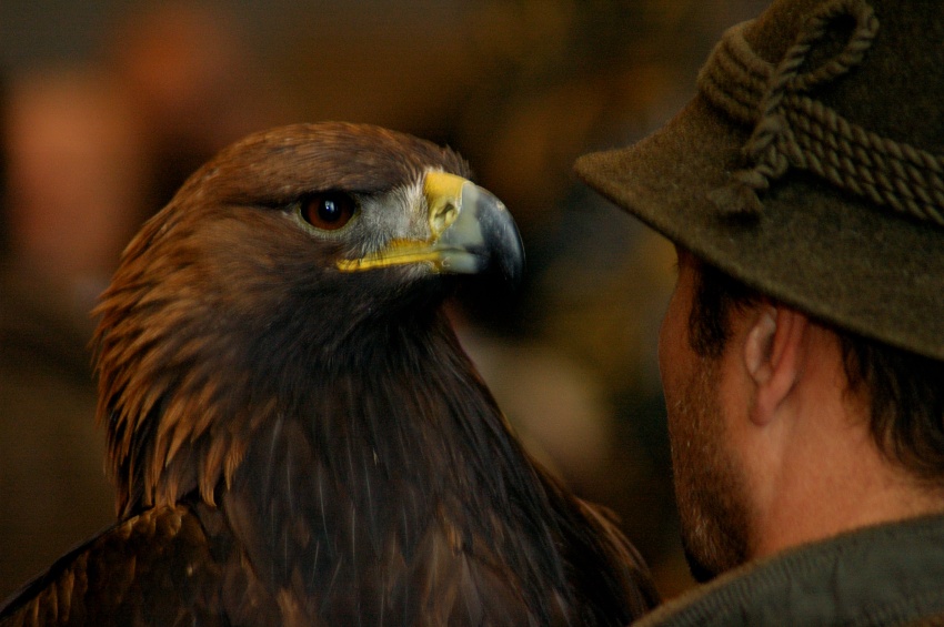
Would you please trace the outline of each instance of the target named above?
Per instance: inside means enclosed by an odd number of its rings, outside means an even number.
[[[777,0],[654,135],[582,158],[671,239],[693,574],[646,625],[944,617],[944,3]]]

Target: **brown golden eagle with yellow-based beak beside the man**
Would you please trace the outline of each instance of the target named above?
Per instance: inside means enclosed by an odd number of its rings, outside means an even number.
[[[448,149],[292,125],[201,168],[99,307],[116,525],[2,625],[623,625],[634,549],[538,468],[456,341],[514,277],[508,211]]]

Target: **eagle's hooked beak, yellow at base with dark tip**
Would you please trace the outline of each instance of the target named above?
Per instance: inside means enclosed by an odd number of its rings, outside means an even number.
[[[445,172],[425,174],[423,196],[429,240],[394,240],[366,257],[341,260],[338,267],[354,272],[426,263],[445,274],[498,271],[518,285],[524,270],[524,247],[502,201],[468,179]]]

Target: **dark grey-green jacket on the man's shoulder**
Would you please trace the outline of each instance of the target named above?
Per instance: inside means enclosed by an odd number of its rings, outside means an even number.
[[[944,516],[931,516],[749,564],[634,625],[944,625],[942,583]]]

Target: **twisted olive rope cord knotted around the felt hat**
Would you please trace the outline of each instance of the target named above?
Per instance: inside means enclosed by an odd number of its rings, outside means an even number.
[[[836,18],[855,27],[843,50],[813,70],[804,63]],[[834,0],[804,24],[795,43],[774,67],[743,36],[730,29],[699,75],[699,87],[736,120],[754,124],[743,153],[753,165],[731,174],[710,198],[724,213],[760,215],[759,193],[790,168],[810,171],[882,205],[944,225],[944,158],[898,143],[853,124],[806,95],[862,61],[878,30],[863,0]]]

